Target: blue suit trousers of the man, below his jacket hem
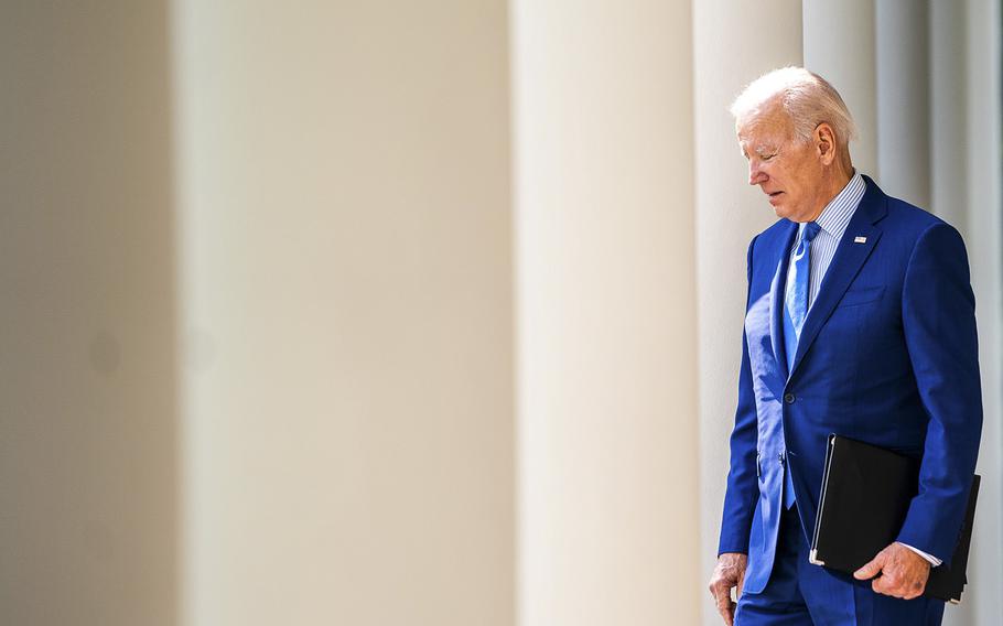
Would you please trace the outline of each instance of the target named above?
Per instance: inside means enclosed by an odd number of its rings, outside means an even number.
[[[769,581],[762,593],[742,594],[735,626],[939,626],[939,600],[882,595],[871,581],[809,563],[797,510],[784,511]]]

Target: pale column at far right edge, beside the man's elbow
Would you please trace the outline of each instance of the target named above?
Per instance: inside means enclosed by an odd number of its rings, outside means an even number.
[[[1001,197],[1000,4],[966,2],[968,214],[966,241],[979,323],[985,421],[978,472],[984,477],[969,564],[971,626],[1003,624],[1003,197]]]

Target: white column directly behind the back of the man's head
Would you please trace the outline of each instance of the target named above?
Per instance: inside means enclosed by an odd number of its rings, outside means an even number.
[[[876,176],[874,0],[804,0],[801,11],[805,67],[829,80],[843,97],[860,131],[850,145],[853,165]]]

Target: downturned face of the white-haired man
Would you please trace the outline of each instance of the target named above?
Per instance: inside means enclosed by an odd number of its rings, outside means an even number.
[[[740,119],[738,145],[748,160],[748,184],[768,196],[777,217],[811,222],[824,207],[823,166],[815,138],[801,141],[778,105]]]

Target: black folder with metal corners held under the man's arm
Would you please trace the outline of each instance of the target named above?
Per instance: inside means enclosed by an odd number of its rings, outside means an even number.
[[[961,602],[980,479],[978,474],[972,478],[951,565],[930,569],[924,595]],[[809,560],[853,574],[895,541],[918,485],[918,458],[829,435]]]

